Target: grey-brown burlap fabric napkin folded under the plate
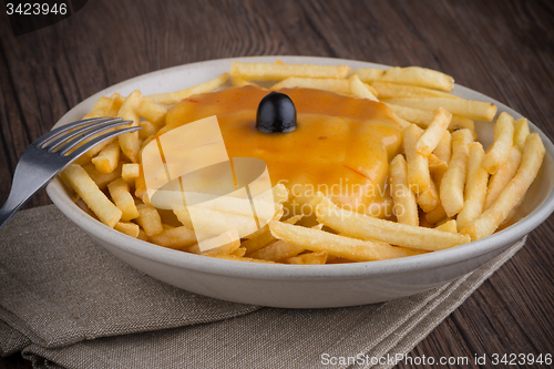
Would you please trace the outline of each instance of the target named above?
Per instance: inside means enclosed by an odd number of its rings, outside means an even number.
[[[0,355],[22,351],[35,368],[390,368],[523,244],[408,298],[260,308],[154,280],[44,206],[0,233]]]

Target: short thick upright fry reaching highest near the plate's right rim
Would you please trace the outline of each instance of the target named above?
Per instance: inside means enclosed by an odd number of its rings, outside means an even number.
[[[494,123],[494,141],[486,150],[483,158],[483,167],[490,174],[494,174],[504,163],[510,154],[510,147],[514,140],[514,119],[506,112],[502,112]]]

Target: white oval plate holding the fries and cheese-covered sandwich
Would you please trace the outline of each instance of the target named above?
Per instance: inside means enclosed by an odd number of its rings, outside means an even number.
[[[348,64],[356,68],[388,66],[360,61],[308,57],[237,58],[239,61]],[[122,95],[140,89],[143,94],[168,92],[211,80],[230,69],[232,59],[175,66],[131,79],[107,88],[69,111],[58,123],[80,120],[103,95]],[[454,94],[470,100],[493,102],[500,112],[521,114],[472,90],[456,85]],[[489,262],[546,219],[554,209],[554,146],[538,132],[546,155],[538,177],[521,208],[523,219],[478,242],[450,249],[401,259],[321,266],[264,265],[238,263],[177,252],[148,244],[94,221],[82,212],[57,178],[47,193],[71,221],[99,245],[120,259],[154,278],[193,293],[230,301],[287,308],[326,308],[384,301],[418,294],[453,280]],[[492,123],[476,124],[480,141],[492,137]]]

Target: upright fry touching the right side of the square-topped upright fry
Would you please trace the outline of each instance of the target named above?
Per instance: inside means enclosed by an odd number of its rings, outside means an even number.
[[[470,144],[468,160],[468,178],[465,180],[464,204],[458,213],[456,226],[462,229],[468,223],[476,219],[483,212],[489,173],[481,165],[484,157],[483,146],[479,142]]]

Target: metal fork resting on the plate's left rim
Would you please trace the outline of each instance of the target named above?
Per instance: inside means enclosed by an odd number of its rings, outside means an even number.
[[[116,135],[141,130],[141,126],[115,129],[130,123],[121,117],[95,117],[62,125],[34,141],[16,166],[10,195],[0,209],[0,229],[37,191],[91,147]],[[76,147],[111,129],[114,130]]]

